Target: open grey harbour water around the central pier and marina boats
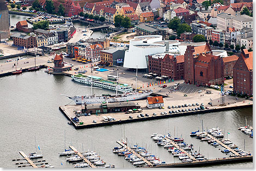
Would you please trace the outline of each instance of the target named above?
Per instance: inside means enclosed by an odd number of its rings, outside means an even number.
[[[221,147],[215,148],[207,142],[200,142],[199,139],[190,137],[191,131],[202,130],[202,120],[204,129],[220,127],[225,138],[229,132],[228,138],[234,144],[253,154],[253,139],[237,130],[238,127],[245,126],[245,118],[249,124],[252,124],[252,108],[76,130],[72,125],[67,124],[68,120],[58,107],[74,104],[60,94],[72,96],[90,93],[89,88],[78,87],[79,85],[81,84],[72,81],[71,77],[50,75],[45,73],[44,69],[0,78],[2,132],[0,167],[16,168],[12,160],[22,158],[19,154],[20,150],[27,155],[35,150],[39,151],[38,146],[35,146],[35,137],[36,145],[40,146],[44,154],[43,159],[56,168],[74,167],[74,164],[66,162],[65,157],[58,155],[58,152],[63,152],[64,148],[68,149],[71,144],[81,152],[95,150],[107,164],[115,164],[119,168],[132,168],[132,164],[125,161],[123,156],[112,152],[112,148],[118,146],[115,141],[122,137],[127,137],[129,144],[144,146],[166,163],[180,162],[178,158],[174,158],[163,149],[163,146],[157,146],[153,142],[150,135],[156,132],[161,134],[169,132],[173,136],[175,133],[175,137],[182,137],[188,144],[192,143],[194,150],[200,150],[206,158],[228,157],[219,150],[222,149]],[[93,93],[113,94],[114,91],[96,89]],[[66,132],[65,146],[64,132]],[[211,167],[252,168],[253,162]]]

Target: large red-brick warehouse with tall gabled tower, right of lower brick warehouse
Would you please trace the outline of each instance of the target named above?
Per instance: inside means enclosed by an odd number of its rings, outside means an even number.
[[[223,83],[223,58],[211,54],[209,44],[187,46],[184,54],[185,82],[200,86]]]

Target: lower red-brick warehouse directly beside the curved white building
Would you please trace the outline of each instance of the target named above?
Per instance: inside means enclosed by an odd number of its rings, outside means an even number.
[[[148,56],[149,72],[168,76],[173,80],[184,78],[184,56],[172,56],[168,53],[158,53]]]

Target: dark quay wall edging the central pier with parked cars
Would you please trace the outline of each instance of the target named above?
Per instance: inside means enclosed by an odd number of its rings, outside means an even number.
[[[253,107],[253,105],[243,105],[243,106],[230,106],[230,107],[222,107],[222,108],[215,108],[215,109],[204,109],[203,111],[192,111],[192,112],[185,112],[185,113],[175,113],[175,114],[166,114],[166,115],[156,115],[154,117],[143,117],[143,118],[134,118],[134,119],[126,119],[126,120],[117,120],[105,123],[95,123],[89,125],[74,125],[75,129],[84,129],[89,127],[96,127],[96,126],[107,126],[107,125],[115,125],[115,124],[124,124],[124,123],[132,123],[136,121],[144,121],[144,120],[153,120],[153,119],[163,119],[163,118],[170,118],[170,117],[181,117],[185,115],[193,115],[193,114],[203,114],[203,113],[213,113],[213,112],[221,112],[221,111],[229,111],[239,108],[248,108]],[[63,111],[62,107],[59,107],[60,111],[68,118],[70,121],[68,114]]]

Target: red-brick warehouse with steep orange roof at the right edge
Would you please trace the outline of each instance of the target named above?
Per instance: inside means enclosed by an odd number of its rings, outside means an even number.
[[[243,49],[233,68],[235,93],[253,94],[253,52]]]

